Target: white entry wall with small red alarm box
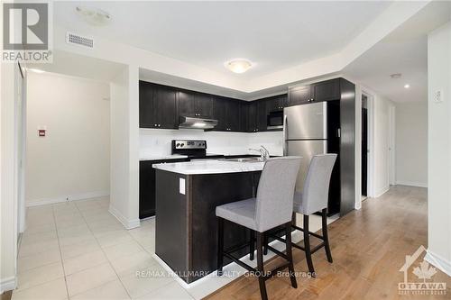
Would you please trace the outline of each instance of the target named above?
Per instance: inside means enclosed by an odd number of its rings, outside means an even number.
[[[29,72],[27,95],[26,204],[109,195],[109,86]]]

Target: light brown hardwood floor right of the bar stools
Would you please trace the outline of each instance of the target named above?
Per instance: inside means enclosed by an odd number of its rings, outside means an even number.
[[[266,282],[270,299],[451,299],[451,277],[437,269],[434,282],[446,283],[446,295],[399,295],[403,281],[399,270],[406,255],[428,246],[428,203],[425,188],[393,186],[379,198],[364,201],[354,211],[329,225],[333,264],[324,250],[313,255],[316,278],[298,277],[298,288],[289,277]],[[304,252],[294,250],[295,270],[307,272]],[[412,266],[419,265],[424,253]],[[281,262],[274,259],[265,267]],[[409,281],[421,282],[409,269]],[[427,282],[430,280],[427,280]],[[260,299],[255,277],[240,277],[207,296],[216,299]]]

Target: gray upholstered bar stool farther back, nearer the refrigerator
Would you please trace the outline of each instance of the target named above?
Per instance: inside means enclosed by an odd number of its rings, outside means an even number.
[[[332,263],[332,254],[330,252],[329,238],[327,233],[327,200],[329,196],[330,177],[332,169],[336,162],[336,154],[315,155],[308,167],[308,173],[304,182],[303,193],[295,192],[293,204],[292,227],[304,232],[304,247],[293,243],[293,247],[306,252],[308,271],[315,277],[315,269],[311,255],[324,247],[327,260]],[[308,231],[308,216],[321,211],[322,232],[319,235]],[[304,215],[304,228],[296,226],[296,213]],[[318,246],[310,248],[310,235],[322,240]]]

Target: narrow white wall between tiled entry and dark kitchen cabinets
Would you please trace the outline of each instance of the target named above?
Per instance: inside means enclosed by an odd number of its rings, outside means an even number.
[[[125,228],[139,226],[138,68],[125,67],[110,85],[111,174],[109,211]]]

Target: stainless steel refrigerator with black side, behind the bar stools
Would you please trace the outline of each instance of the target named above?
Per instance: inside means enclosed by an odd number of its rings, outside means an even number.
[[[284,155],[301,156],[302,162],[296,182],[296,190],[302,192],[310,160],[316,154],[336,153],[340,148],[339,102],[327,101],[308,105],[286,107],[283,110]],[[339,159],[337,159],[339,160]],[[331,177],[329,190],[329,214],[339,211],[339,167]]]

